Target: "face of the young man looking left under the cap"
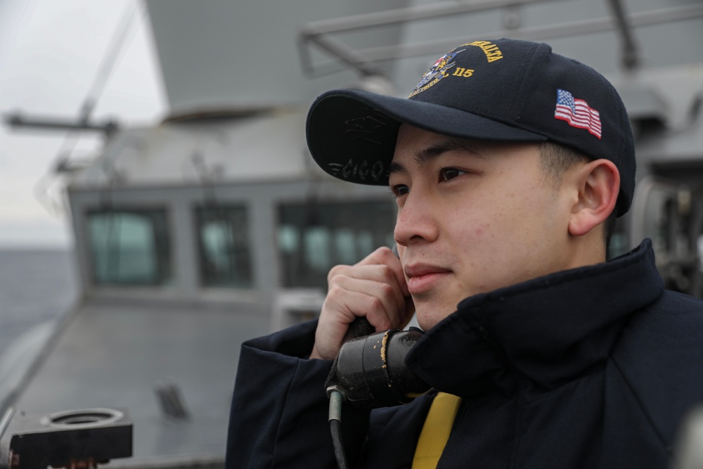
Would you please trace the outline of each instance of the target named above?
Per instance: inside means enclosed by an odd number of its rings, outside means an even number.
[[[452,139],[404,124],[389,185],[394,236],[425,330],[465,297],[563,268],[569,201],[534,144]]]

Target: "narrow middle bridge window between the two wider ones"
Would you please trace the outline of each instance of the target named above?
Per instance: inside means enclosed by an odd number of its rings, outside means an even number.
[[[247,211],[243,205],[198,207],[200,279],[206,286],[252,287]]]

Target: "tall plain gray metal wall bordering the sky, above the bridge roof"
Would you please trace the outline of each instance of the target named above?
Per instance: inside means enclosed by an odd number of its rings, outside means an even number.
[[[307,103],[356,81],[353,72],[309,77],[299,62],[305,23],[398,8],[407,0],[147,0],[172,114]],[[399,28],[347,37],[357,46],[399,41]]]

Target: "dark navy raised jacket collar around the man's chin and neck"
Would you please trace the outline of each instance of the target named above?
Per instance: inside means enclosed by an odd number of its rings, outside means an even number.
[[[629,316],[663,291],[645,240],[610,262],[466,298],[406,363],[426,383],[463,397],[518,383],[554,389],[604,364]]]

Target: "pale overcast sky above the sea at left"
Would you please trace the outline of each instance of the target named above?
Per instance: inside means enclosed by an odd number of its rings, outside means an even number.
[[[146,8],[137,0],[0,0],[0,114],[76,117],[126,18],[131,27],[93,117],[158,122],[167,103]],[[97,145],[75,143],[65,131],[0,124],[0,248],[70,247],[51,167],[62,150],[80,158]]]

